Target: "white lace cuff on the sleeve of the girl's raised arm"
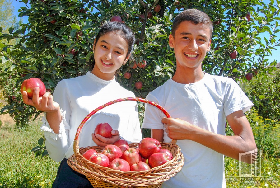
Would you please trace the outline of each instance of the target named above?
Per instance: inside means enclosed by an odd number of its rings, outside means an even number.
[[[44,116],[42,117],[42,126],[41,126],[41,130],[45,131],[45,136],[52,138],[53,140],[57,140],[57,138],[62,139],[64,136],[66,136],[65,134],[65,127],[64,127],[64,115],[63,115],[63,111],[62,109],[60,109],[60,113],[61,113],[61,119],[62,121],[60,122],[59,125],[59,133],[55,133],[53,131],[52,128],[50,128],[49,123],[46,119],[46,113],[44,112]]]

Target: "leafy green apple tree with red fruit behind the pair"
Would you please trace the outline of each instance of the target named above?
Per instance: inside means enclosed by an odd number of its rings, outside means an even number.
[[[266,74],[268,65],[276,63],[269,63],[267,57],[280,44],[276,40],[279,1],[273,0],[22,0],[21,3],[18,16],[27,16],[28,23],[0,34],[0,61],[6,67],[0,68],[0,76],[16,81],[17,100],[25,79],[40,78],[52,92],[60,80],[91,70],[95,35],[113,16],[115,21],[121,18],[132,28],[136,37],[133,58],[119,69],[116,78],[142,98],[175,72],[176,59],[168,38],[172,21],[185,9],[202,10],[214,23],[211,51],[203,61],[203,70],[210,74],[236,81],[245,80],[247,73]],[[262,37],[262,33],[268,37]],[[18,42],[9,45],[3,39],[18,39]],[[140,120],[143,110],[143,104],[139,103]],[[3,113],[17,113],[16,117],[27,119],[40,114],[22,108],[22,103],[16,100],[9,101],[2,108]]]

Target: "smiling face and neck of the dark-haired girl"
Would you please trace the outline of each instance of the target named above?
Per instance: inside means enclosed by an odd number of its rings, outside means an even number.
[[[112,80],[116,70],[126,63],[128,46],[126,41],[116,32],[101,36],[94,48],[95,64],[91,73],[103,80]]]

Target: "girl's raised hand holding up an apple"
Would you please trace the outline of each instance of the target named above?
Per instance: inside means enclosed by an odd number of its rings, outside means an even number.
[[[34,88],[33,97],[29,99],[27,92],[22,92],[22,100],[25,104],[34,106],[37,110],[53,113],[59,111],[59,104],[54,102],[50,92],[45,92],[42,97],[39,97],[39,87]]]

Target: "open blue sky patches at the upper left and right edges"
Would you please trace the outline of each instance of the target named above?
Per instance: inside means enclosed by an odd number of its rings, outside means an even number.
[[[264,0],[265,1],[265,0]],[[14,6],[14,15],[18,16],[18,12],[17,10],[20,8],[20,7],[24,7],[25,4],[22,3],[22,2],[19,2],[19,0],[13,0],[12,2],[12,5]],[[28,17],[27,16],[24,16],[23,17],[23,22],[24,23],[27,23],[28,22]],[[278,23],[280,24],[280,21],[278,20]],[[278,28],[279,29],[279,28]],[[260,37],[269,37],[269,35],[264,35],[264,34],[260,34],[259,35]],[[280,33],[277,33],[277,40],[280,39]],[[277,60],[277,62],[280,62],[280,54],[278,54],[280,52],[280,46],[277,46],[276,47],[277,50],[272,50],[272,56],[269,56],[268,57],[268,62],[273,62],[273,60]]]

